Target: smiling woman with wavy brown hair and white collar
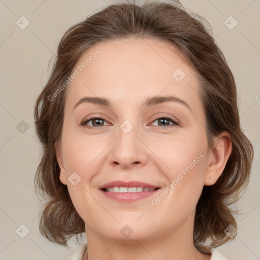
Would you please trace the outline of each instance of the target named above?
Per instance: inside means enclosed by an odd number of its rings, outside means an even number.
[[[66,259],[226,259],[248,183],[233,74],[179,2],[110,5],[71,27],[35,106],[40,231]]]

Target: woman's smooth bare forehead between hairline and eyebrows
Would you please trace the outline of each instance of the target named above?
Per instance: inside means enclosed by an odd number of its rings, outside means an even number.
[[[67,89],[70,109],[84,95],[116,103],[160,93],[196,99],[199,91],[197,74],[182,53],[158,39],[131,37],[95,44],[83,52],[75,70],[78,75]]]

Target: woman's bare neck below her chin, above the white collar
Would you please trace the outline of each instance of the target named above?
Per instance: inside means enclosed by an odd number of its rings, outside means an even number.
[[[209,260],[193,245],[193,222],[187,220],[177,229],[168,230],[154,237],[128,237],[127,240],[108,238],[86,226],[88,250],[82,260]],[[112,237],[112,236],[111,236]]]

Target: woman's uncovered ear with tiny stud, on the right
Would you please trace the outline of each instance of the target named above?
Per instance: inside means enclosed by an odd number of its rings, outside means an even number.
[[[228,161],[232,151],[232,142],[230,133],[222,132],[218,137],[214,138],[214,147],[210,150],[209,161],[204,185],[210,186],[215,184],[219,176],[224,171],[226,162]]]

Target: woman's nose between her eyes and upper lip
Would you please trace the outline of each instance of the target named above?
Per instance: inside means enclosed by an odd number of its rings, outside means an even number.
[[[132,127],[129,123],[122,124],[118,137],[111,144],[109,161],[113,167],[131,169],[147,164],[149,149],[145,146],[145,140],[142,140],[142,134]]]

